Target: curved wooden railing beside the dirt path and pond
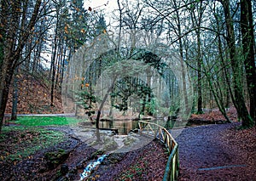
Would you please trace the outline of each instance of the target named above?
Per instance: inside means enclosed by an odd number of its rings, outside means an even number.
[[[140,133],[152,136],[159,139],[161,142],[166,144],[168,149],[169,157],[166,164],[166,171],[164,174],[163,181],[177,180],[178,175],[178,144],[173,139],[172,134],[169,133],[165,127],[161,127],[154,122],[138,122]]]

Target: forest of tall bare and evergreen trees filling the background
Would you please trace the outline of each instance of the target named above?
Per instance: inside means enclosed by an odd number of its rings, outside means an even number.
[[[45,112],[255,125],[255,0],[0,0],[0,17],[0,133]]]

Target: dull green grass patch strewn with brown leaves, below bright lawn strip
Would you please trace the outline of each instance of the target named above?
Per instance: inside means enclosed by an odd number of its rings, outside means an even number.
[[[65,139],[64,133],[39,127],[3,127],[0,161],[20,161]]]

